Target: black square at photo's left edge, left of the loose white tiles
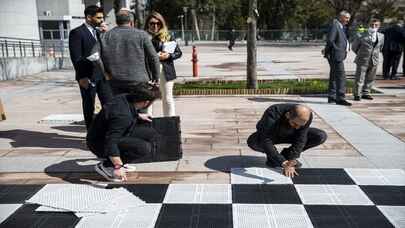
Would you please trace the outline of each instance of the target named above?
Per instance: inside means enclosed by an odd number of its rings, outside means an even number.
[[[0,185],[0,204],[22,204],[43,185]]]

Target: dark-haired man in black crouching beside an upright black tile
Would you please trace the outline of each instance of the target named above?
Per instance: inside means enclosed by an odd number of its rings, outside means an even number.
[[[124,164],[150,160],[159,134],[147,124],[151,117],[139,110],[150,106],[156,97],[146,84],[140,84],[130,94],[115,96],[96,115],[86,141],[91,152],[106,159],[95,166],[106,179],[125,181]]]

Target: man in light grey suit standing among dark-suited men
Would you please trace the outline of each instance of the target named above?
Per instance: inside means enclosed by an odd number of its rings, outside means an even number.
[[[370,95],[377,72],[378,58],[384,46],[384,35],[377,32],[381,22],[372,19],[368,31],[353,41],[352,50],[356,53],[354,62],[357,65],[356,78],[353,88],[355,101],[361,98],[372,100]]]

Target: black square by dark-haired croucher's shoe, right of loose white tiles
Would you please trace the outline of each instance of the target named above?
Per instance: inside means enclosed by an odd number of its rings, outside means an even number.
[[[111,184],[107,189],[123,187],[146,203],[163,203],[167,184]]]

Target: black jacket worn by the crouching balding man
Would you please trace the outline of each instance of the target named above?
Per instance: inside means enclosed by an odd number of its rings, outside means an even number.
[[[312,113],[309,121],[300,129],[294,129],[288,123],[285,114],[297,104],[275,104],[263,114],[256,128],[260,141],[270,140],[272,144],[292,141],[292,157],[298,158],[307,143],[308,128],[312,123]]]

